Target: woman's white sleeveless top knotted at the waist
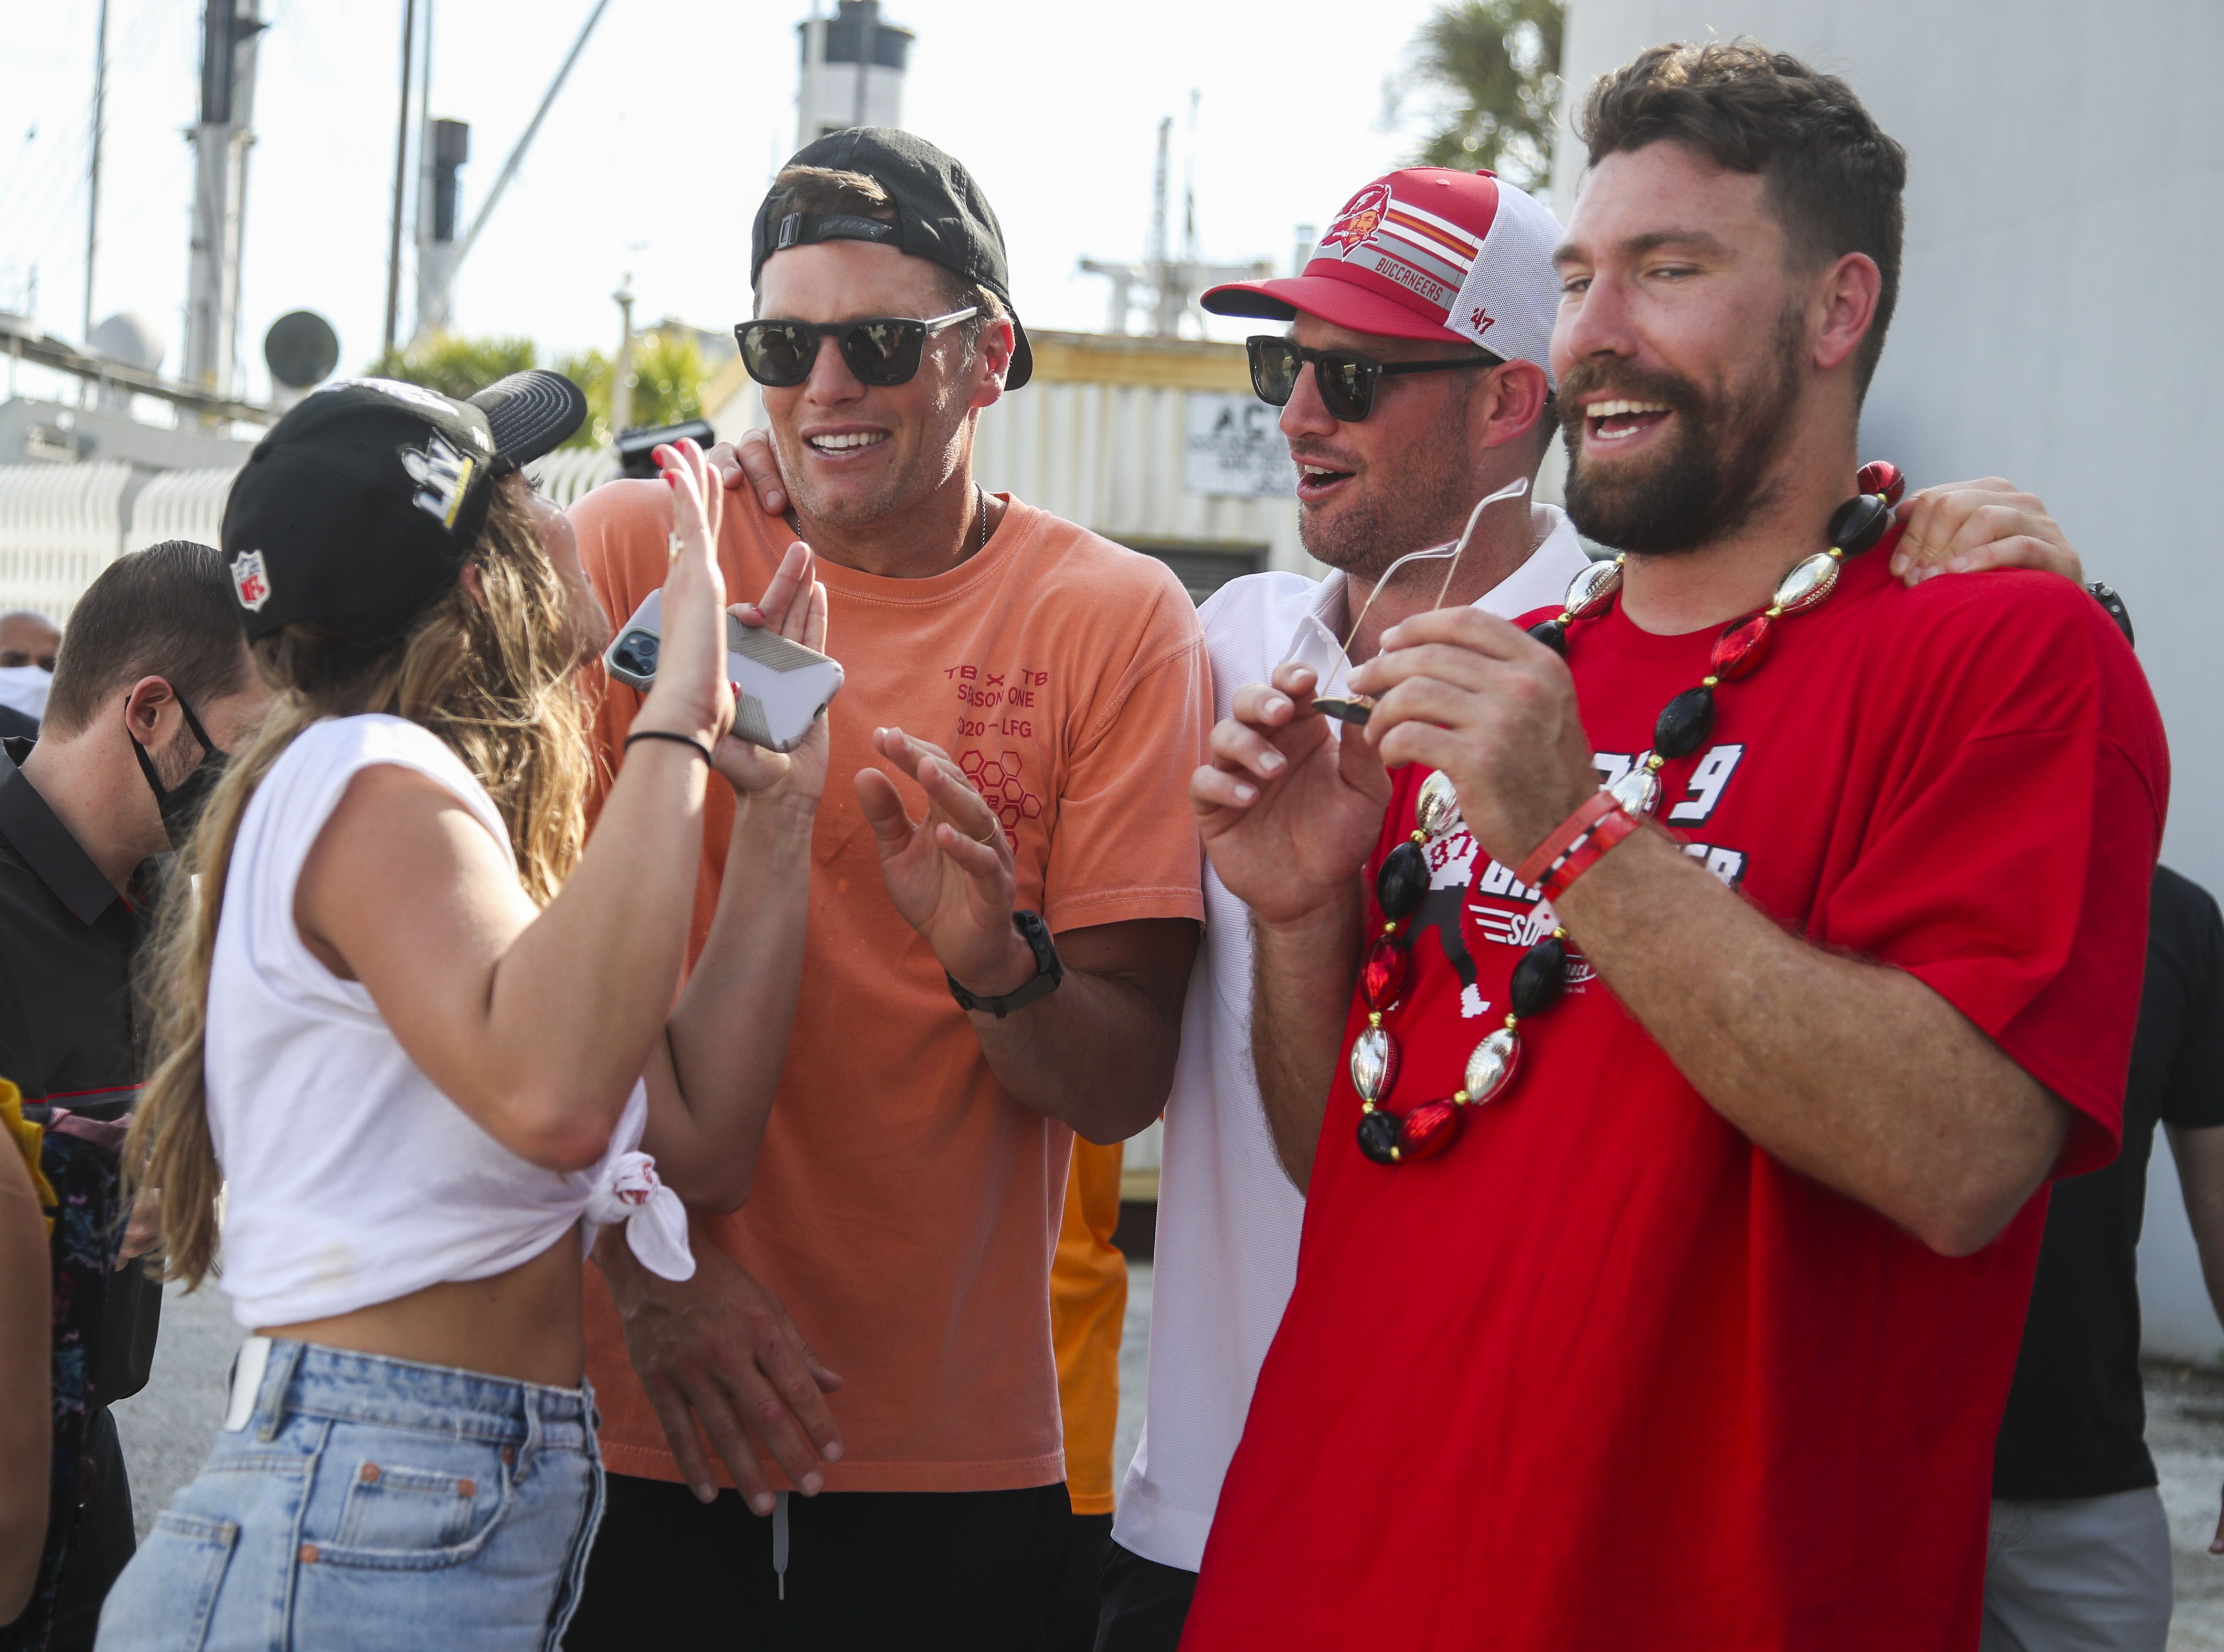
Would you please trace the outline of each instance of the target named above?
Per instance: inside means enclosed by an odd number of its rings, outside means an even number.
[[[532,1261],[587,1216],[629,1221],[634,1254],[687,1278],[687,1214],[634,1152],[636,1083],[609,1152],[558,1174],[480,1129],[294,927],[294,885],[347,783],[391,763],[438,780],[503,845],[487,789],[436,734],[398,716],[314,723],[240,820],[209,969],[209,1132],[229,1183],[222,1287],[249,1330],[347,1314]],[[589,1232],[592,1236],[592,1232]]]

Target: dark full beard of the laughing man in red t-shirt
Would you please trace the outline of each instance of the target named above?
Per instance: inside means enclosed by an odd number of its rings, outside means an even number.
[[[1677,556],[1735,534],[1768,505],[1768,471],[1799,400],[1804,320],[1777,316],[1766,356],[1741,385],[1708,396],[1681,374],[1579,362],[1559,385],[1568,442],[1568,516],[1601,545]],[[1672,409],[1677,438],[1641,460],[1583,458],[1583,402],[1599,391]]]

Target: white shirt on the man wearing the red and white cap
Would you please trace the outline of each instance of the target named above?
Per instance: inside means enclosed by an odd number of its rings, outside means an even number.
[[[1475,607],[1512,618],[1559,603],[1583,567],[1566,514],[1530,509],[1528,563]],[[1408,574],[1408,578],[1423,578]],[[1343,634],[1343,576],[1230,580],[1199,609],[1212,654],[1214,716],[1290,656],[1319,616]],[[1159,1234],[1150,1296],[1143,1439],[1121,1487],[1114,1541],[1194,1572],[1243,1436],[1259,1363],[1297,1281],[1305,1198],[1274,1156],[1250,1058],[1250,920],[1205,865],[1205,938],[1181,1012],[1181,1058],[1165,1103]]]

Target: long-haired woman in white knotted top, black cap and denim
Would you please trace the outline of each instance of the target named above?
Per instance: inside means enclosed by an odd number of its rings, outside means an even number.
[[[554,374],[474,402],[342,385],[234,485],[225,556],[280,696],[185,849],[129,1158],[196,1285],[225,1185],[254,1336],[102,1648],[554,1648],[600,1516],[583,1243],[623,1221],[685,1278],[681,1196],[747,1194],[825,729],[790,758],[729,736],[721,487],[658,449],[663,658],[580,849],[609,631],[516,467],[583,411]],[[810,551],[736,614],[821,645]],[[683,989],[709,785],[734,829]]]

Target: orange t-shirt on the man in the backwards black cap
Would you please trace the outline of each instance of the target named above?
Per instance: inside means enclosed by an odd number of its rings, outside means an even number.
[[[669,494],[614,482],[572,507],[580,558],[623,625],[663,585]],[[718,565],[758,596],[790,545],[736,500]],[[843,1374],[838,1492],[990,1492],[1065,1476],[1050,1261],[1072,1134],[990,1072],[943,967],[896,914],[852,776],[872,729],[947,749],[1019,849],[1019,905],[1052,932],[1203,918],[1188,776],[1212,718],[1203,636],[1161,563],[1012,502],[947,574],[878,578],[821,563],[834,763],[812,836],[812,905],[778,1101],[749,1203],[698,1216]],[[641,698],[596,718],[612,763]],[[914,818],[925,798],[896,776]],[[712,787],[689,961],[709,932],[732,827]],[[634,1381],[616,1310],[587,1270],[587,1370],[618,1474],[678,1481]],[[767,1472],[785,1485],[767,1461]]]

